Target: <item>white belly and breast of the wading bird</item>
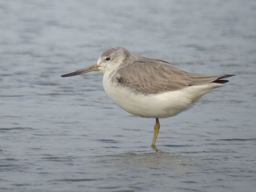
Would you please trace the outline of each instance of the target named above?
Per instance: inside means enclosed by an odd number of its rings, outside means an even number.
[[[134,94],[129,88],[111,82],[107,74],[103,77],[106,94],[122,109],[145,118],[166,118],[186,110],[202,95],[222,84],[188,86],[182,90],[160,94]]]

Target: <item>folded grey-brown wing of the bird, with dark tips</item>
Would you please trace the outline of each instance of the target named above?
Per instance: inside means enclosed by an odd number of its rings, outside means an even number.
[[[117,70],[117,74],[117,81],[122,86],[131,88],[135,93],[143,94],[158,94],[210,82],[225,83],[228,80],[219,79],[233,76],[189,73],[168,62],[144,57],[127,61]]]

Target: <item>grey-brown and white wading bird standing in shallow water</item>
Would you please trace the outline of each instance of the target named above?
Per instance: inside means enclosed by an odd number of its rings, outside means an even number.
[[[204,75],[186,72],[169,62],[131,55],[122,47],[102,52],[96,64],[61,77],[92,71],[103,73],[103,87],[110,99],[128,113],[155,118],[151,147],[155,148],[159,118],[187,110],[201,96],[222,87],[234,74]]]

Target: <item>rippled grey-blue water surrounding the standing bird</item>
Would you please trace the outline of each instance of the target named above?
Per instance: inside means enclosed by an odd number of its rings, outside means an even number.
[[[102,74],[60,78],[123,46],[237,74],[178,116],[120,109]],[[254,192],[256,2],[0,1],[0,192]]]

